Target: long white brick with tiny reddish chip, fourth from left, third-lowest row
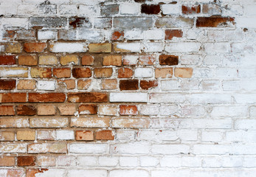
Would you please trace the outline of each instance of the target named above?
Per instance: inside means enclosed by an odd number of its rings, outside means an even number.
[[[147,154],[149,150],[150,145],[142,142],[110,145],[110,153]]]

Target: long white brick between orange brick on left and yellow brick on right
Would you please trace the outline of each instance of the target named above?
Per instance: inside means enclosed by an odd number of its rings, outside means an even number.
[[[86,52],[86,44],[84,43],[54,43],[50,44],[51,52]]]

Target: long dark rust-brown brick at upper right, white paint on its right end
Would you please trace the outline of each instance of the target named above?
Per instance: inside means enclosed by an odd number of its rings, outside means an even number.
[[[230,17],[198,17],[196,27],[226,27],[228,23],[234,23],[234,18]]]

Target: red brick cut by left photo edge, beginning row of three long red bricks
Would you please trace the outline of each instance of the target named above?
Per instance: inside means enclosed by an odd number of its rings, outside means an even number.
[[[27,102],[26,93],[0,94],[0,103],[24,103]]]

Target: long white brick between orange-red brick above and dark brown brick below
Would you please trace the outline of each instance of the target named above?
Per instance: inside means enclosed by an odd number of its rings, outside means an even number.
[[[201,44],[195,42],[179,42],[165,45],[166,52],[199,52]]]

